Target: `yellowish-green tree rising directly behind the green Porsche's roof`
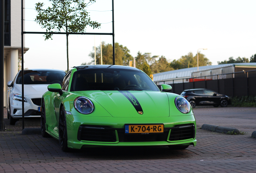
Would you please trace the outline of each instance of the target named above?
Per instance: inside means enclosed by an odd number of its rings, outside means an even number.
[[[101,43],[102,47],[102,63],[113,64],[113,46],[112,44]],[[129,54],[130,50],[122,44],[115,43],[115,64],[116,65],[129,65],[129,61],[133,60],[133,57]],[[89,54],[93,59],[90,64],[94,64],[94,47],[93,52]],[[101,64],[101,48],[100,45],[96,47],[96,64]]]

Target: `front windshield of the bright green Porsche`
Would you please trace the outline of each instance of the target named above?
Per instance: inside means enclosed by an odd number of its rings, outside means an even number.
[[[70,91],[159,91],[144,72],[124,69],[84,69],[74,72]]]

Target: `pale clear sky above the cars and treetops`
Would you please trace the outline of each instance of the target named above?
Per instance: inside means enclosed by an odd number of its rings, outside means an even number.
[[[25,0],[25,30],[45,32],[35,20],[35,3]],[[212,65],[218,61],[249,58],[256,54],[256,0],[114,0],[115,42],[126,46],[135,57],[151,53],[169,62],[199,51]],[[112,0],[96,0],[87,8],[100,29],[86,32],[112,33]],[[25,34],[24,68],[67,69],[66,36]],[[110,35],[70,35],[69,67],[92,61],[94,45],[112,44]]]

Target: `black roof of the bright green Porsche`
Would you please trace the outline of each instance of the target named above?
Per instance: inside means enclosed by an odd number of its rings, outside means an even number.
[[[126,70],[138,70],[140,71],[138,68],[135,67],[131,67],[131,66],[122,66],[122,65],[82,65],[82,66],[74,66],[73,68],[76,68],[77,70],[82,70],[82,69],[92,69],[92,68],[96,68],[96,69],[102,69],[102,68],[108,68],[108,69],[126,69]]]

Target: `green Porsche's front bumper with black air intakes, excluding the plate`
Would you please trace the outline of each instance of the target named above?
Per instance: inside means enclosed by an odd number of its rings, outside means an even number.
[[[81,117],[66,114],[68,147],[196,145],[194,115],[141,118]],[[98,122],[98,123],[93,123]],[[163,123],[164,133],[125,134],[125,124]]]

